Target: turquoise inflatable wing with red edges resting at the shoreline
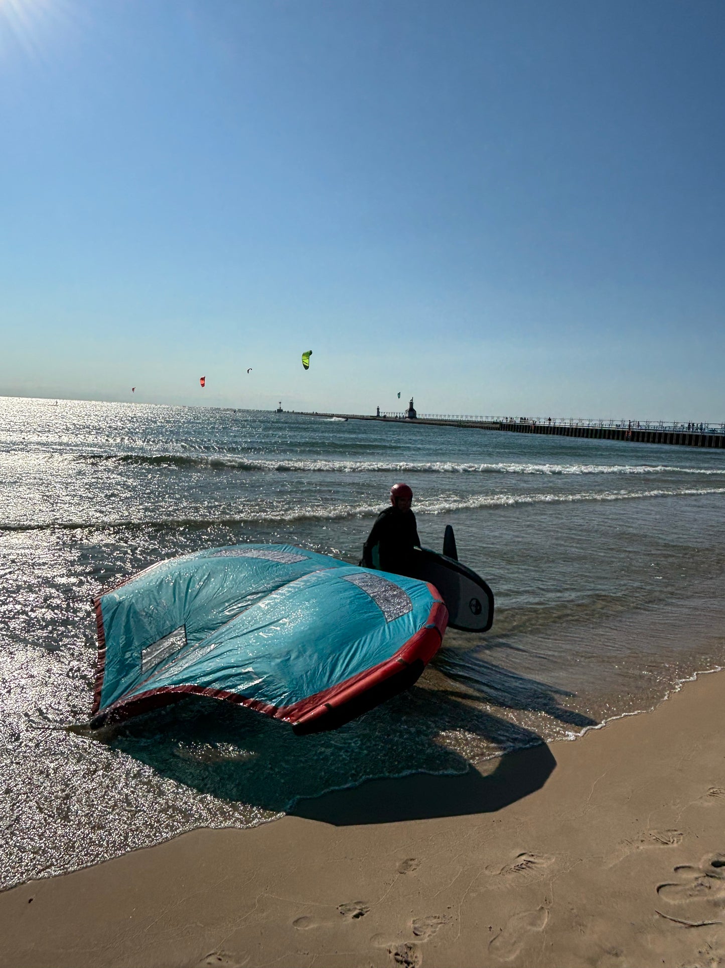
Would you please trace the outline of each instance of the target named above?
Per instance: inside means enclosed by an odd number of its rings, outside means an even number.
[[[333,729],[412,685],[448,622],[425,582],[291,545],[161,561],[95,606],[94,726],[196,693]]]

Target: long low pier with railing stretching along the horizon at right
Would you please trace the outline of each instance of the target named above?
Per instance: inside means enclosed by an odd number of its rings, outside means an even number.
[[[412,401],[411,401],[412,403]],[[586,420],[512,417],[469,417],[421,413],[411,418],[407,413],[309,413],[290,412],[305,417],[344,417],[347,420],[378,420],[383,423],[408,425],[429,424],[436,427],[469,427],[475,430],[497,430],[511,434],[548,434],[555,437],[584,437],[596,440],[625,440],[632,443],[668,443],[682,447],[725,449],[725,424],[672,423],[652,420]]]

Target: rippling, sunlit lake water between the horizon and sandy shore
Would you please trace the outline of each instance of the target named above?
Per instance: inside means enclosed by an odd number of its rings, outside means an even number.
[[[5,887],[366,777],[463,772],[725,665],[721,451],[4,399],[0,473]],[[357,561],[402,478],[423,542],[452,525],[494,590],[489,633],[449,631],[414,689],[334,733],[194,698],[84,729],[102,588],[243,541]]]

